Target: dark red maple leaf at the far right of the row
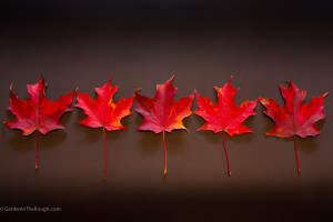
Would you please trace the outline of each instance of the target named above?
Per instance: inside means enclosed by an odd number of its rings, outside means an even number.
[[[275,122],[274,128],[266,134],[279,138],[294,138],[297,172],[301,172],[296,148],[296,135],[306,138],[307,135],[314,137],[321,133],[321,130],[315,125],[315,122],[325,117],[323,112],[323,102],[327,93],[319,98],[312,98],[307,104],[304,104],[303,101],[306,97],[306,90],[299,90],[292,82],[290,82],[289,88],[280,85],[280,89],[285,101],[284,107],[280,107],[273,99],[260,100],[266,108],[264,113]]]

